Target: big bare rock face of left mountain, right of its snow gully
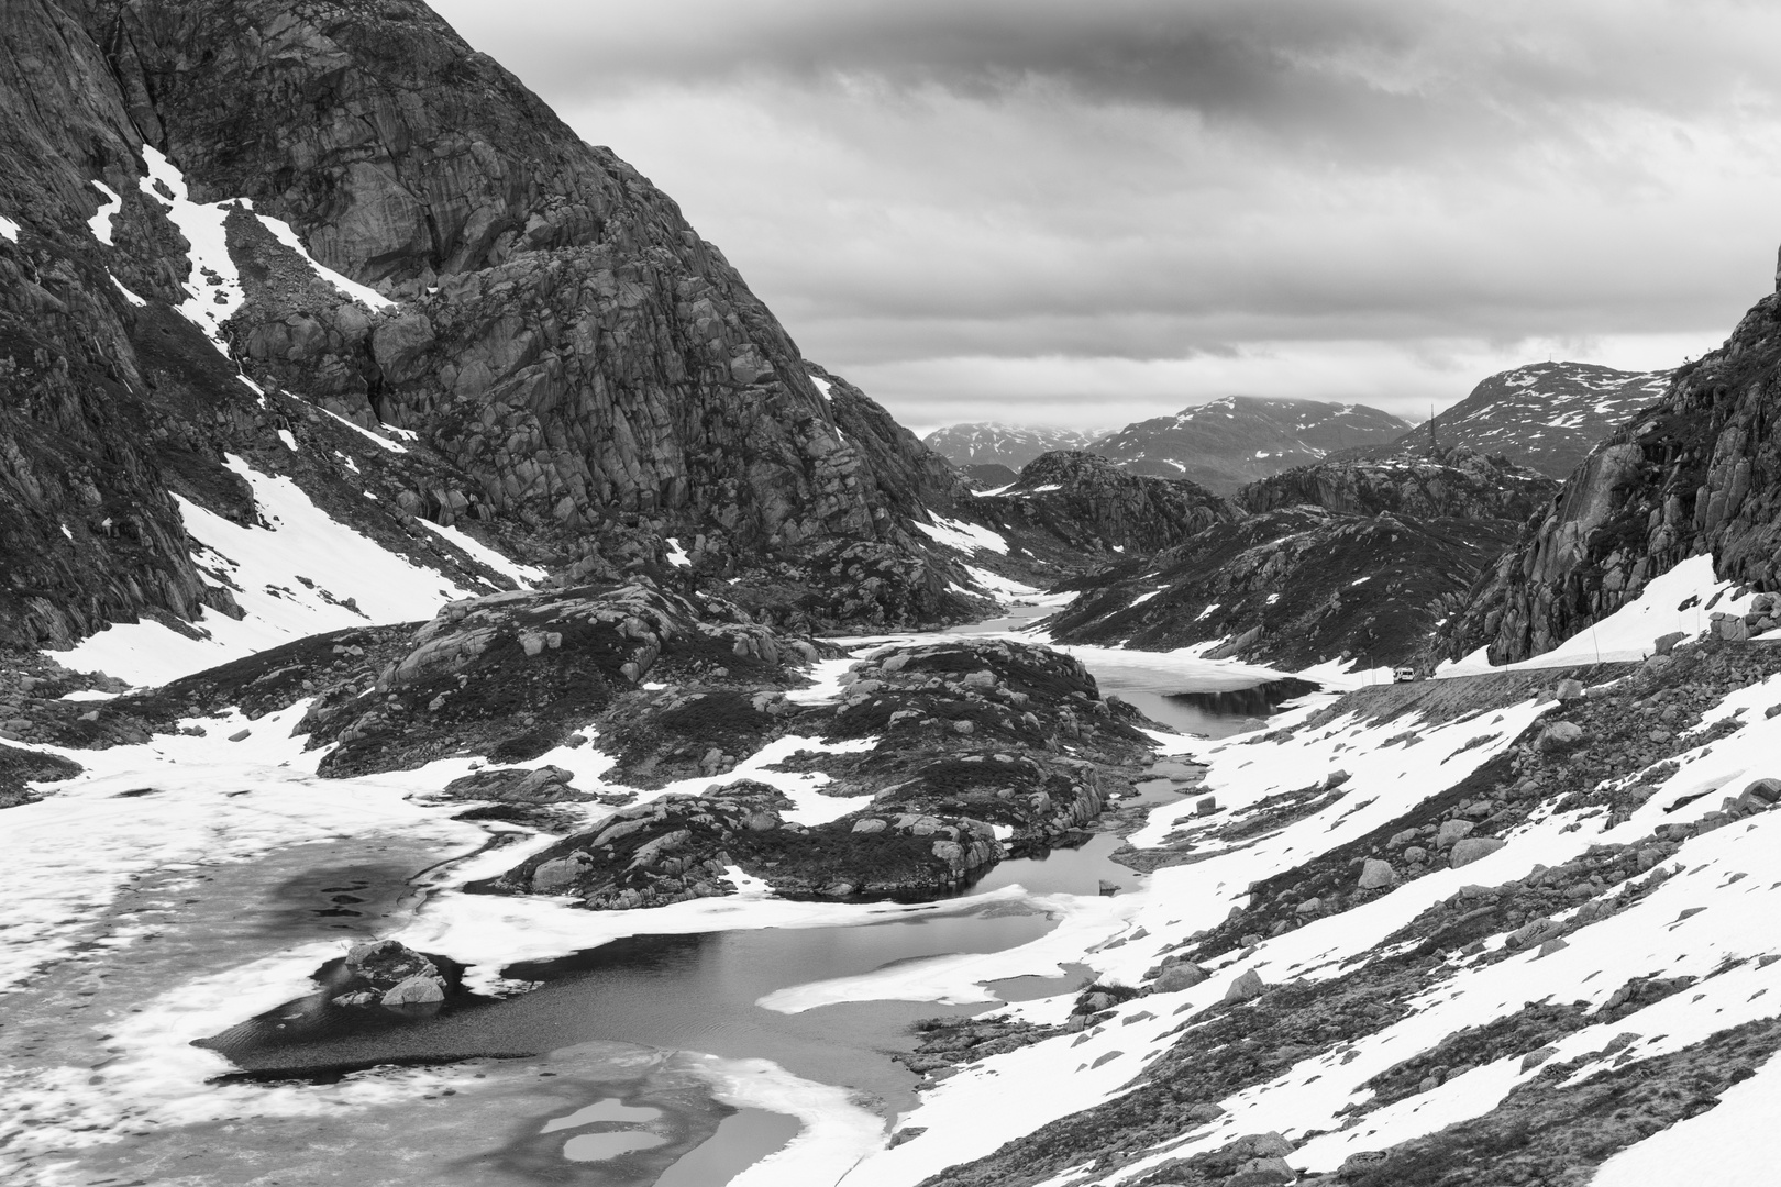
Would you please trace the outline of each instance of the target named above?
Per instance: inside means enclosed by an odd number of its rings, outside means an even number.
[[[135,123],[201,201],[253,199],[401,299],[372,324],[269,303],[232,338],[281,386],[422,431],[497,509],[663,509],[752,548],[894,530],[721,253],[424,5],[96,18]]]

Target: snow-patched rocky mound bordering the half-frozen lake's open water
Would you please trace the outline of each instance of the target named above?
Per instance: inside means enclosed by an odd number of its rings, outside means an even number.
[[[625,808],[479,890],[629,909],[732,893],[743,870],[789,897],[949,893],[1094,822],[1147,755],[1138,721],[1076,660],[999,641],[882,651],[816,707],[716,682],[636,692],[600,719],[620,756],[607,778],[718,776],[796,735],[817,749],[775,771],[819,776],[851,810],[805,826],[775,787],[721,781]]]

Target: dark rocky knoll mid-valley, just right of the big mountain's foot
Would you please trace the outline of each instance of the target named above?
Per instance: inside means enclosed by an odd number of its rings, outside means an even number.
[[[1095,454],[1045,454],[967,513],[1072,568],[1083,552],[1156,552],[1243,514],[1193,482],[1126,473]]]

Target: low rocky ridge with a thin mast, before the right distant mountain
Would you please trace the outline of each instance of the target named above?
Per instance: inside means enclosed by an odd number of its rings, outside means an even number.
[[[1519,523],[1544,511],[1555,493],[1557,482],[1507,457],[1452,448],[1439,457],[1300,466],[1250,482],[1236,502],[1252,513],[1311,505],[1341,514]]]

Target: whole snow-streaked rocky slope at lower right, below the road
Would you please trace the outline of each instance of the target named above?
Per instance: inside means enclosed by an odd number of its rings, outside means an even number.
[[[960,1055],[850,1187],[1222,1182],[1250,1157],[1284,1159],[1257,1183],[1583,1182],[1610,1155],[1601,1182],[1679,1182],[1640,1175],[1640,1139],[1696,1150],[1696,1182],[1767,1182],[1761,1126],[1706,1110],[1781,1096],[1781,653],[1580,674],[1567,701],[1551,674],[1380,687],[1186,744],[1216,808],[1131,838],[1184,865],[1076,936],[1106,998],[1010,1005],[1047,1038]],[[1022,956],[796,1000],[981,1000],[1053,972]]]

